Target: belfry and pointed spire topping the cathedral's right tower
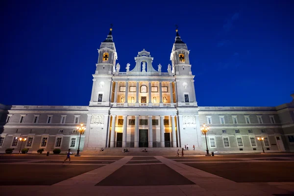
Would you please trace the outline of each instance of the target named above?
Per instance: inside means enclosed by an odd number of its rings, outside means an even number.
[[[176,36],[171,53],[172,73],[174,75],[191,75],[190,51],[187,45],[181,40],[178,29],[175,31]]]

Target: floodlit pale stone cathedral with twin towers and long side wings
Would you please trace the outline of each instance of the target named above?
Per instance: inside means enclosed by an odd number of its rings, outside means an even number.
[[[110,29],[98,49],[89,106],[0,104],[0,152],[100,147],[184,147],[219,153],[294,151],[294,100],[276,107],[198,106],[190,50],[176,30],[167,70],[143,49],[117,63]],[[292,95],[294,98],[294,94]],[[79,135],[77,126],[86,130]],[[210,127],[205,137],[200,127]],[[19,138],[25,138],[23,144]],[[258,141],[263,138],[262,141]],[[79,141],[80,139],[80,141]]]

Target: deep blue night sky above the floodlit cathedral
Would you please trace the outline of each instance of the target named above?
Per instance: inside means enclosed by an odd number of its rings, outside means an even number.
[[[291,102],[293,9],[291,0],[2,0],[0,103],[88,105],[111,23],[121,71],[146,49],[167,72],[179,25],[199,106]]]

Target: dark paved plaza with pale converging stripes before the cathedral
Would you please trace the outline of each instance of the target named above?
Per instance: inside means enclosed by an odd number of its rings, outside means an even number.
[[[0,186],[1,195],[272,196],[275,194],[276,196],[291,196],[294,193],[293,154],[215,157],[201,155],[184,158],[175,156],[84,156],[73,157],[71,164],[62,164],[63,158],[63,156],[0,156],[2,169],[0,181],[2,185],[5,184],[3,182],[6,182],[6,185]],[[265,175],[264,171],[258,173],[263,165],[271,164],[270,170],[274,170],[277,164],[278,167],[286,169],[280,179],[277,179],[286,181],[275,182],[274,177],[269,177],[270,182],[267,179],[254,182],[253,176],[247,179],[248,182],[235,182],[238,176],[243,178],[242,176],[247,172],[246,166],[250,167],[252,164],[260,165],[256,171],[249,171],[257,172],[256,175]],[[30,171],[34,170],[36,172],[29,177]],[[53,172],[56,174],[52,174]],[[266,175],[270,176],[272,173],[274,171],[269,171]],[[279,173],[275,175],[279,176]],[[235,179],[232,179],[234,176]],[[46,181],[47,178],[50,180]],[[44,182],[40,179],[44,179]],[[41,183],[37,183],[39,181]],[[10,186],[7,186],[9,182],[11,182]]]

